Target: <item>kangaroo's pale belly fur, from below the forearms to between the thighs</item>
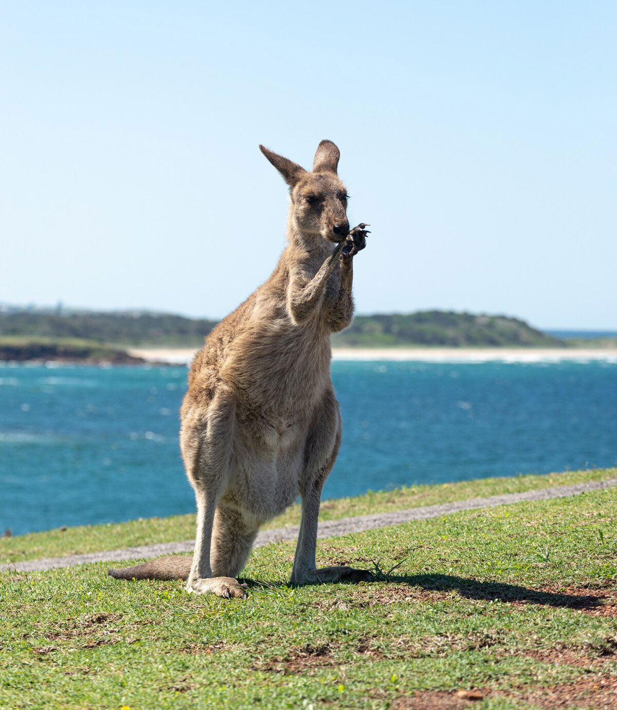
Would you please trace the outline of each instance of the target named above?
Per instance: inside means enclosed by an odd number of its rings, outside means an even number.
[[[332,388],[330,339],[317,324],[290,328],[286,319],[249,328],[221,378],[239,398],[223,502],[263,523],[299,495],[311,422]]]

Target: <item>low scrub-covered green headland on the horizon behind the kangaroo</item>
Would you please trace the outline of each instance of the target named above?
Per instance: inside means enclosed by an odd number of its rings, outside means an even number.
[[[0,361],[143,364],[140,349],[199,349],[215,320],[156,312],[1,307]],[[555,337],[506,315],[442,310],[358,315],[334,349],[615,349],[617,337]],[[572,337],[574,336],[574,337]]]

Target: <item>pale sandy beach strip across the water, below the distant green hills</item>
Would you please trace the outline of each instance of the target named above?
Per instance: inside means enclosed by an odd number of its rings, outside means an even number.
[[[129,353],[148,362],[188,364],[196,349],[134,348]],[[418,362],[617,362],[617,348],[334,348],[333,360],[410,360]]]

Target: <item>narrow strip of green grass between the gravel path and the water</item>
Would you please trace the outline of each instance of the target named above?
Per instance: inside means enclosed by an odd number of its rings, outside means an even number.
[[[389,510],[404,510],[432,506],[435,503],[450,503],[468,498],[496,496],[501,493],[521,493],[550,486],[566,486],[584,481],[601,481],[617,478],[617,469],[572,471],[547,476],[513,476],[474,481],[462,481],[440,486],[411,486],[396,491],[367,493],[356,498],[339,498],[325,501],[321,506],[321,520],[337,520],[350,515],[386,513]],[[188,484],[187,484],[188,485]],[[266,527],[297,525],[300,520],[299,506],[292,506],[284,515],[272,520]],[[149,518],[131,520],[115,525],[92,525],[50,530],[31,535],[0,538],[0,564],[21,562],[38,557],[60,557],[82,552],[116,550],[120,547],[150,545],[154,542],[177,542],[190,540],[195,534],[194,515],[176,515],[172,518]]]

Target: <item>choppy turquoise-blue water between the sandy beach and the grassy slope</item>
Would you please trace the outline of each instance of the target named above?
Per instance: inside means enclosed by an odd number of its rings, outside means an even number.
[[[184,367],[0,366],[0,534],[194,510]],[[617,363],[335,361],[325,498],[617,465]]]

